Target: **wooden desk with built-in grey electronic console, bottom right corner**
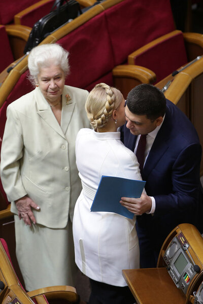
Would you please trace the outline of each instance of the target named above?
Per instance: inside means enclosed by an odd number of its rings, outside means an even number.
[[[157,268],[123,270],[139,304],[203,304],[203,238],[195,226],[180,224],[160,250]]]

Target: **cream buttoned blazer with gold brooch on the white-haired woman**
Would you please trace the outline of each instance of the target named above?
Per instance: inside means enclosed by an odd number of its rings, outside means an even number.
[[[13,201],[28,195],[40,206],[33,210],[37,223],[63,228],[69,214],[73,219],[81,191],[75,140],[81,128],[89,127],[87,96],[85,90],[64,87],[61,125],[40,88],[8,106],[1,178],[13,213],[18,214]]]

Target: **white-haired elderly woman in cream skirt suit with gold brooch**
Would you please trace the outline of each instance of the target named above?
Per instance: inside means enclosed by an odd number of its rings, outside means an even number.
[[[75,139],[89,122],[88,92],[64,85],[67,56],[57,44],[33,48],[28,68],[36,88],[7,110],[1,178],[27,290],[74,284],[72,220],[81,191]]]

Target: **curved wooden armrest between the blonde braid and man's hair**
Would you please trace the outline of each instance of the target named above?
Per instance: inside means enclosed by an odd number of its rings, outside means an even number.
[[[126,98],[129,91],[140,84],[152,84],[156,75],[150,69],[139,65],[117,65],[112,70],[114,86],[118,88]]]

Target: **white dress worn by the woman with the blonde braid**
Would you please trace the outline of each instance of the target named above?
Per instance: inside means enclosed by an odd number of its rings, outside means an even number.
[[[111,212],[90,212],[90,207],[102,175],[142,179],[137,158],[120,141],[120,132],[81,129],[76,164],[83,186],[73,219],[76,264],[95,281],[126,286],[122,269],[139,268],[140,263],[136,216],[131,220]]]

